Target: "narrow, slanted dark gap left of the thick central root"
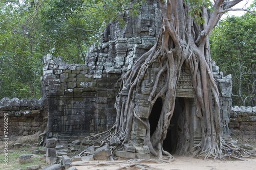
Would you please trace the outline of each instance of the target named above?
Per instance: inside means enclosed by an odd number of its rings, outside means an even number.
[[[163,106],[163,101],[161,98],[158,98],[151,110],[150,117],[148,117],[148,122],[150,122],[150,135],[152,136],[157,128],[159,117],[161,114]]]

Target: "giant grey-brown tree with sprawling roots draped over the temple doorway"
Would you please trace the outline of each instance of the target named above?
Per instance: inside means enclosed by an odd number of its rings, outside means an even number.
[[[116,134],[123,143],[130,143],[133,123],[138,121],[146,129],[144,145],[148,145],[151,153],[159,158],[162,154],[170,155],[163,150],[163,140],[166,138],[170,119],[174,114],[181,67],[186,65],[190,69],[193,88],[196,92],[196,116],[201,122],[202,139],[198,145],[191,148],[189,104],[185,99],[185,109],[178,120],[177,153],[180,155],[193,153],[205,158],[222,158],[225,155],[224,151],[231,147],[220,136],[219,91],[211,70],[208,35],[221,17],[219,11],[223,10],[223,1],[216,1],[211,13],[207,11],[205,4],[201,6],[197,4],[201,12],[194,11],[192,15],[190,1],[186,2],[159,1],[163,26],[157,43],[142,55],[121,79],[119,95],[116,98]],[[198,17],[202,17],[203,21],[200,22]],[[135,111],[135,96],[136,93],[141,93],[147,68],[153,67],[153,64],[158,65],[159,71],[156,72],[155,80],[152,80],[154,86],[147,99],[150,105],[148,115],[158,98],[162,99],[163,105],[156,130],[150,135],[148,119],[141,119]],[[164,80],[164,85],[157,92],[160,79]]]

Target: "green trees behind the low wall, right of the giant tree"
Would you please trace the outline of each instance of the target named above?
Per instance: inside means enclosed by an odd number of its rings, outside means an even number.
[[[255,106],[255,25],[251,14],[231,16],[221,20],[210,36],[212,58],[225,75],[232,75],[233,105]]]

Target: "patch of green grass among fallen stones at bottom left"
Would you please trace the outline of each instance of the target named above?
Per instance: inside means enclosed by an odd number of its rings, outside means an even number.
[[[37,149],[39,149],[39,148],[37,148]],[[32,149],[32,147],[21,147],[17,150],[9,149],[7,165],[6,165],[5,157],[4,157],[5,152],[2,150],[2,152],[0,153],[0,169],[14,170],[14,169],[21,168],[22,170],[26,170],[26,167],[31,166],[31,165],[41,165],[41,167],[47,166],[45,159],[41,158],[41,156],[42,156],[41,154],[37,154],[38,157],[31,158],[31,163],[19,164],[19,156],[20,155],[31,154],[31,151],[37,150],[37,149]]]

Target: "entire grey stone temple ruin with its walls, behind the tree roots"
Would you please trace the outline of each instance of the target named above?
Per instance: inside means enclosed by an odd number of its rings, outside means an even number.
[[[6,98],[0,101],[0,115],[5,112],[10,114],[13,122],[11,120],[9,126],[13,124],[13,127],[19,129],[15,133],[16,136],[45,131],[48,139],[56,138],[59,142],[69,143],[75,139],[83,139],[106,131],[113,126],[116,120],[115,101],[119,91],[118,79],[133,66],[137,58],[156,43],[160,32],[159,26],[161,26],[161,12],[156,0],[148,1],[146,6],[142,6],[138,17],[131,18],[123,14],[122,18],[126,22],[125,27],[120,28],[118,22],[112,22],[102,34],[101,46],[90,49],[86,64],[67,64],[61,61],[61,57],[46,55],[42,76],[42,98],[39,101]],[[148,68],[147,76],[142,82],[142,93],[136,94],[135,99],[137,115],[141,119],[149,119],[152,132],[156,128],[161,112],[161,99],[157,100],[150,115],[145,113],[150,109],[147,95],[153,88],[152,81],[158,69],[157,64]],[[254,140],[256,129],[250,129],[250,134],[247,136],[244,134],[246,124],[243,124],[244,129],[239,129],[240,120],[247,114],[231,112],[231,75],[224,77],[215,62],[212,62],[212,71],[220,92],[221,135],[229,139],[233,133],[235,136],[232,137]],[[161,88],[159,85],[158,89]],[[126,94],[127,91],[121,91],[121,93]],[[164,149],[169,152],[176,149],[177,120],[179,113],[185,107],[184,100],[189,101],[190,114],[194,115],[190,120],[193,125],[190,128],[190,144],[195,145],[201,141],[201,125],[196,116],[191,74],[186,66],[183,66],[178,82],[175,111],[163,144]],[[241,109],[236,109],[242,112]],[[253,125],[256,125],[256,116],[254,116],[256,108],[249,110],[250,115],[245,109],[249,117],[246,120],[248,119],[251,124],[254,120]],[[230,113],[232,113],[231,117]],[[16,121],[18,118],[15,117],[25,118],[19,118],[20,120]],[[230,121],[233,122],[230,123]],[[133,125],[131,142],[142,147],[146,130],[136,120]],[[19,126],[23,127],[19,128]],[[27,127],[27,131],[24,130],[24,126]],[[229,129],[229,126],[232,129]],[[3,134],[0,135],[3,136]]]

